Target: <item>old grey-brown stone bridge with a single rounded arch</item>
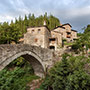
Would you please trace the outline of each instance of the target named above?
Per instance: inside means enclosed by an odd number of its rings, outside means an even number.
[[[34,73],[40,77],[44,76],[56,59],[55,52],[50,49],[27,44],[0,45],[0,70],[20,56],[31,63]]]

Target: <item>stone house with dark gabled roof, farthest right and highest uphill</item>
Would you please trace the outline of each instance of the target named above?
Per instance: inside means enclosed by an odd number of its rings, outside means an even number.
[[[56,27],[53,31],[61,33],[62,39],[66,39],[68,42],[77,39],[77,31],[71,29],[72,26],[67,23]]]

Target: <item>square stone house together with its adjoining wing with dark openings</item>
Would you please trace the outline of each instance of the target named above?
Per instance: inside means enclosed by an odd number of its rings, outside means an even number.
[[[24,34],[24,44],[40,46],[57,50],[58,45],[62,45],[62,35],[55,31],[50,31],[47,26],[27,28]]]

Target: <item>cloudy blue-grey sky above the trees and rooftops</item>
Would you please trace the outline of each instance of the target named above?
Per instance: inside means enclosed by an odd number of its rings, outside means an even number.
[[[61,24],[71,24],[78,32],[90,24],[90,0],[0,0],[0,22],[45,12],[59,18]]]

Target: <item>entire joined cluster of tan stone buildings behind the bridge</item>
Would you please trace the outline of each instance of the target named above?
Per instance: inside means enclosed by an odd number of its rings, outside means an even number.
[[[43,26],[27,28],[27,33],[24,34],[24,44],[57,50],[62,46],[63,39],[68,42],[77,39],[77,31],[71,28],[72,26],[67,23],[50,31],[44,22]]]

